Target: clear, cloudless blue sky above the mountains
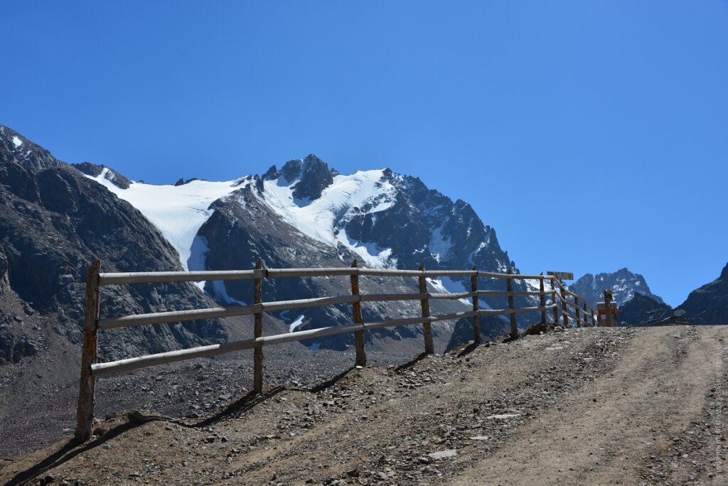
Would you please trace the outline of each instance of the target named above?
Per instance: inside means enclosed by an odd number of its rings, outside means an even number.
[[[470,202],[521,271],[728,261],[728,1],[16,1],[0,124],[132,179],[315,153]]]

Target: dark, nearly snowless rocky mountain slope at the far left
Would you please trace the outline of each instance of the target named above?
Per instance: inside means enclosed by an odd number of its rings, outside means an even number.
[[[102,271],[181,269],[173,247],[138,210],[7,127],[0,127],[0,212],[0,362],[36,354],[56,338],[80,342],[92,260],[102,260]],[[102,315],[113,316],[207,302],[191,284],[101,293]],[[100,339],[102,359],[224,338],[216,321],[112,333]]]

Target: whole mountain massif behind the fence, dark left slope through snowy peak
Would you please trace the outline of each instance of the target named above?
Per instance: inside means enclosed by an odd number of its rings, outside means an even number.
[[[95,258],[103,260],[104,271],[251,268],[262,258],[271,268],[349,266],[356,259],[368,267],[414,269],[424,263],[431,269],[475,266],[518,273],[494,229],[484,225],[469,204],[454,202],[421,180],[388,169],[341,174],[313,155],[286,162],[280,169],[270,167],[263,175],[159,186],[135,182],[99,164],[60,162],[23,135],[0,127],[0,204],[0,310],[12,315],[17,312],[13,309],[24,308],[39,319],[52,316],[52,331],[71,343],[80,336],[84,271]],[[429,284],[435,292],[470,289],[469,279],[436,279]],[[481,279],[480,284],[483,289],[505,287],[498,280]],[[342,295],[347,287],[348,279],[338,278],[266,280],[264,300]],[[415,292],[416,279],[365,277],[360,288],[365,293]],[[525,285],[515,288],[525,290]],[[253,289],[244,281],[201,282],[197,287],[109,287],[103,295],[103,312],[125,315],[207,307],[209,298],[223,305],[248,303]],[[517,305],[533,304],[533,299],[516,300],[521,300]],[[470,308],[469,302],[459,300],[430,305],[433,313]],[[481,301],[483,308],[506,305],[505,299]],[[365,320],[419,313],[419,302],[363,306]],[[352,316],[350,306],[334,306],[266,319],[271,330],[303,330],[349,324]],[[530,322],[529,316],[518,319],[522,325]],[[4,322],[4,359],[35,352],[38,346],[32,343],[40,337],[28,334],[28,325],[13,319]],[[37,328],[47,328],[38,322]],[[115,335],[124,338],[100,343],[101,354],[116,359],[224,341],[225,326],[213,321],[119,330]],[[454,323],[446,322],[433,326],[436,346],[447,345],[453,328]],[[500,331],[484,327],[486,337]],[[419,326],[397,327],[368,332],[367,339],[387,338],[381,343],[411,346],[406,338],[421,333]],[[341,335],[307,345],[344,348],[350,340],[352,336]],[[413,342],[421,347],[419,340]]]

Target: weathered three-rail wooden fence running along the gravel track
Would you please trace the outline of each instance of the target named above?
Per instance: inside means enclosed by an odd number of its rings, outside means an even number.
[[[229,353],[243,349],[253,349],[253,390],[260,393],[263,389],[263,346],[288,343],[304,339],[323,338],[325,336],[337,335],[344,332],[354,332],[356,365],[366,365],[366,354],[364,350],[364,331],[378,329],[381,327],[395,327],[410,324],[422,324],[424,330],[424,351],[432,354],[435,348],[432,344],[432,322],[447,321],[472,317],[473,340],[480,343],[480,316],[510,317],[510,335],[513,339],[518,338],[517,314],[526,312],[540,312],[541,322],[547,322],[547,311],[553,311],[553,322],[559,322],[558,303],[561,301],[561,317],[563,325],[569,327],[569,319],[579,327],[596,325],[596,317],[593,308],[587,302],[569,291],[555,276],[550,275],[522,275],[522,274],[498,274],[486,271],[472,270],[425,270],[420,266],[419,270],[397,270],[383,268],[359,268],[357,261],[351,267],[341,268],[263,268],[261,260],[256,263],[253,270],[236,271],[162,271],[162,272],[138,272],[124,274],[100,273],[101,263],[96,260],[90,266],[86,280],[86,314],[84,319],[84,343],[81,362],[81,384],[79,388],[79,407],[77,411],[76,439],[80,442],[87,440],[92,434],[92,423],[95,405],[95,379],[109,373],[119,373],[135,370],[137,368],[162,365],[184,359],[194,359],[202,356]],[[351,284],[350,295],[337,295],[334,297],[319,297],[298,300],[278,300],[263,302],[262,282],[263,279],[282,279],[294,277],[316,277],[316,276],[349,276]],[[419,284],[418,293],[398,294],[371,294],[363,295],[359,292],[360,276],[380,277],[416,277]],[[458,293],[430,293],[427,292],[427,277],[467,277],[470,276],[470,292]],[[478,279],[505,279],[506,290],[478,290]],[[514,292],[513,280],[538,280],[539,290]],[[154,312],[150,314],[135,314],[120,317],[99,318],[99,295],[100,287],[105,285],[122,284],[151,284],[159,282],[199,282],[206,280],[253,280],[253,305],[234,306],[228,308],[202,308],[187,311]],[[550,282],[550,290],[545,290],[545,281]],[[554,295],[552,303],[546,305],[546,296]],[[489,296],[505,296],[508,298],[508,308],[504,309],[481,309],[478,308],[479,298]],[[515,308],[515,297],[539,296],[539,306]],[[455,300],[472,298],[472,311],[456,312],[453,314],[430,315],[430,300]],[[569,299],[571,298],[571,300]],[[422,316],[405,319],[389,319],[377,322],[364,322],[362,318],[361,303],[363,302],[384,302],[384,301],[406,301],[419,300],[422,307]],[[264,336],[263,335],[263,313],[272,311],[284,311],[294,308],[309,308],[317,306],[333,306],[337,304],[352,304],[353,324],[343,326],[321,327],[318,329],[288,332],[286,334]],[[582,306],[580,307],[580,304]],[[570,312],[568,307],[574,309]],[[587,308],[588,306],[588,308]],[[97,338],[98,330],[111,330],[119,327],[142,326],[150,324],[162,324],[165,322],[181,322],[197,319],[216,319],[230,316],[254,316],[253,339],[240,340],[232,343],[213,344],[210,346],[199,346],[197,348],[167,351],[165,353],[150,354],[128,359],[119,359],[114,362],[97,362]]]

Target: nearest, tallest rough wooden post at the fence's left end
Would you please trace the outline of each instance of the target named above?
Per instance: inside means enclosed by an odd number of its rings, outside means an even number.
[[[84,347],[81,351],[81,383],[79,407],[76,410],[76,442],[85,442],[93,433],[93,412],[96,403],[96,378],[91,365],[96,362],[99,311],[99,271],[101,261],[94,260],[86,274],[86,312],[84,316]]]

